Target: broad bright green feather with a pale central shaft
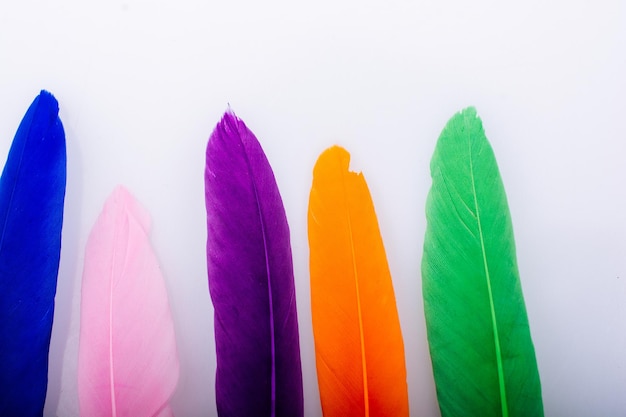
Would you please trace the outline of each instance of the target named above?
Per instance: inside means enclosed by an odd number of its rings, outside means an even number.
[[[474,108],[448,122],[430,169],[422,289],[441,414],[542,416],[506,194]]]

